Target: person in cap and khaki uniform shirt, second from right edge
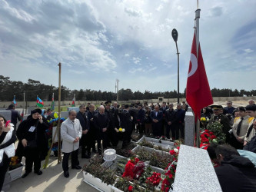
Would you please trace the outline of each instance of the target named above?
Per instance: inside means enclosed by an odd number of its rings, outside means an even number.
[[[234,119],[234,124],[232,127],[234,138],[236,140],[233,140],[231,142],[231,145],[236,149],[243,149],[244,138],[248,130],[248,125],[253,120],[253,118],[251,118],[248,114],[245,113],[244,107],[237,108],[237,111],[240,117]]]

